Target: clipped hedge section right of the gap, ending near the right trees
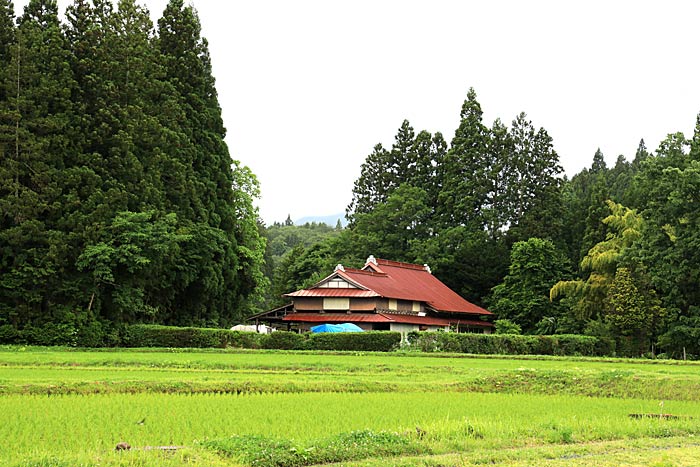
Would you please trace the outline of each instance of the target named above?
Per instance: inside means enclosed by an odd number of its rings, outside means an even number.
[[[496,355],[610,356],[612,340],[593,336],[561,334],[521,336],[515,334],[457,334],[452,332],[411,332],[411,347],[423,352],[461,352]]]

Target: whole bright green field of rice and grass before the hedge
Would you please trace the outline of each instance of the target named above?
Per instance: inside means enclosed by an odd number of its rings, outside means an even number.
[[[644,360],[0,347],[0,465],[695,466],[699,370]],[[119,442],[132,449],[115,451]]]

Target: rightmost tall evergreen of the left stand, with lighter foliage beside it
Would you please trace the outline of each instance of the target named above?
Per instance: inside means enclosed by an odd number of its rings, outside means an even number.
[[[187,139],[177,155],[192,172],[185,177],[191,194],[193,240],[183,252],[184,290],[178,305],[198,320],[227,323],[244,313],[264,285],[264,239],[252,199],[257,180],[234,164],[224,142],[208,44],[195,10],[171,0],[158,21],[165,79],[180,96]]]

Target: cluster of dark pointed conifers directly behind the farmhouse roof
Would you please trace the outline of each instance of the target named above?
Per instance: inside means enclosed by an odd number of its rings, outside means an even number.
[[[470,90],[451,144],[404,121],[391,148],[377,144],[362,164],[348,228],[282,264],[290,283],[308,285],[338,262],[362,265],[373,254],[428,263],[483,304],[508,269],[510,245],[561,237],[562,168],[552,139],[524,113],[510,128],[482,120]]]

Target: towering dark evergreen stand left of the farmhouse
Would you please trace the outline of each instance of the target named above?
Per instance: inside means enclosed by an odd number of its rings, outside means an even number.
[[[258,185],[224,136],[182,0],[157,27],[134,0],[74,0],[65,22],[55,0],[17,18],[0,0],[3,332],[99,340],[247,313],[266,281]]]

